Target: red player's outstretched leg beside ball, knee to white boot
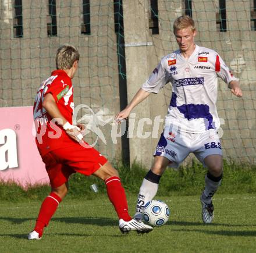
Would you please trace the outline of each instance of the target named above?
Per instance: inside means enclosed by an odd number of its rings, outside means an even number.
[[[113,168],[109,162],[106,162],[96,170],[93,175],[105,181],[106,191],[108,193],[109,200],[118,214],[119,229],[122,233],[128,233],[131,230],[137,231],[138,233],[148,233],[152,231],[151,226],[131,219],[128,212],[125,189],[121,184],[118,171]]]

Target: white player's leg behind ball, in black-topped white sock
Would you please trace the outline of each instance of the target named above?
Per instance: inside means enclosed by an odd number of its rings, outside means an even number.
[[[148,201],[151,201],[157,194],[159,180],[169,164],[170,161],[166,157],[158,155],[155,156],[152,168],[148,171],[141,184],[140,192],[138,193],[136,213],[134,215],[134,219],[143,219],[142,211],[144,205]]]

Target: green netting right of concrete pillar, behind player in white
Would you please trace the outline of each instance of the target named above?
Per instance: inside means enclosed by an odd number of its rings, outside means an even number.
[[[153,1],[154,2],[154,1]],[[191,9],[186,9],[191,5]],[[151,8],[151,6],[149,6]],[[196,42],[217,51],[239,77],[243,98],[234,97],[219,79],[218,113],[222,120],[223,151],[227,159],[256,162],[256,1],[158,1],[159,34],[151,35],[155,59],[177,48],[172,23],[193,16]],[[170,88],[164,92],[165,104]]]

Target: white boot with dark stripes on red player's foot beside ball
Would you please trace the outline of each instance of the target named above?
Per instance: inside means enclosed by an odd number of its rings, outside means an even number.
[[[129,233],[130,231],[137,231],[137,233],[149,233],[153,230],[151,226],[145,225],[142,221],[131,219],[129,222],[119,220],[119,229],[122,233]]]

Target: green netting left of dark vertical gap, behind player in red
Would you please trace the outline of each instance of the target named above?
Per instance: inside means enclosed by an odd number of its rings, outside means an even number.
[[[120,109],[113,1],[6,0],[0,8],[0,106],[33,105],[41,81],[55,69],[56,49],[69,43],[80,51],[74,104],[90,106],[103,121],[113,118]],[[20,38],[16,38],[17,13],[23,20]],[[85,113],[93,115],[80,109],[78,116]],[[109,135],[111,124],[99,128],[108,145],[99,140],[95,148],[109,158],[119,156],[120,145],[112,144]],[[87,135],[89,143],[95,138],[94,133]]]

